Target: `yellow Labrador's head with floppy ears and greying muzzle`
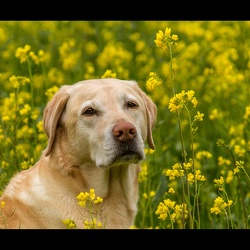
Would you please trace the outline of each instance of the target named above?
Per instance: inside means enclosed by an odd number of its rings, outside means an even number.
[[[157,108],[135,81],[96,79],[64,85],[44,110],[45,155],[59,147],[77,163],[138,163],[154,149]]]

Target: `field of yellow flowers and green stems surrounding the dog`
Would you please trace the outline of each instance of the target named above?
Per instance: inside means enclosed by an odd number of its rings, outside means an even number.
[[[248,229],[249,72],[250,21],[0,21],[0,194],[45,149],[60,86],[129,79],[158,107],[133,228]]]

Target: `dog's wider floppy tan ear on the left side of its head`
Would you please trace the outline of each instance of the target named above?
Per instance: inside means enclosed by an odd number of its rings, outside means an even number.
[[[59,118],[67,104],[70,94],[66,91],[69,86],[64,85],[48,102],[43,112],[43,128],[48,137],[45,156],[50,154],[55,139],[55,133]]]

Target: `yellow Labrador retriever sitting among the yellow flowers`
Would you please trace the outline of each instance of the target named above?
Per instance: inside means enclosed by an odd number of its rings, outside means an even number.
[[[155,147],[156,116],[156,105],[135,81],[62,86],[44,110],[48,144],[41,158],[3,192],[0,228],[63,229],[66,219],[86,228],[84,221],[93,216],[104,228],[129,228],[137,213],[145,142]],[[93,204],[98,213],[76,198],[91,189],[103,199]]]

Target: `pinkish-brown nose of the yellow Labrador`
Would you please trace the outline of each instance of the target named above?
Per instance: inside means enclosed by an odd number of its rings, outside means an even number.
[[[136,128],[130,122],[121,122],[114,126],[113,135],[119,141],[130,141],[135,137]]]

